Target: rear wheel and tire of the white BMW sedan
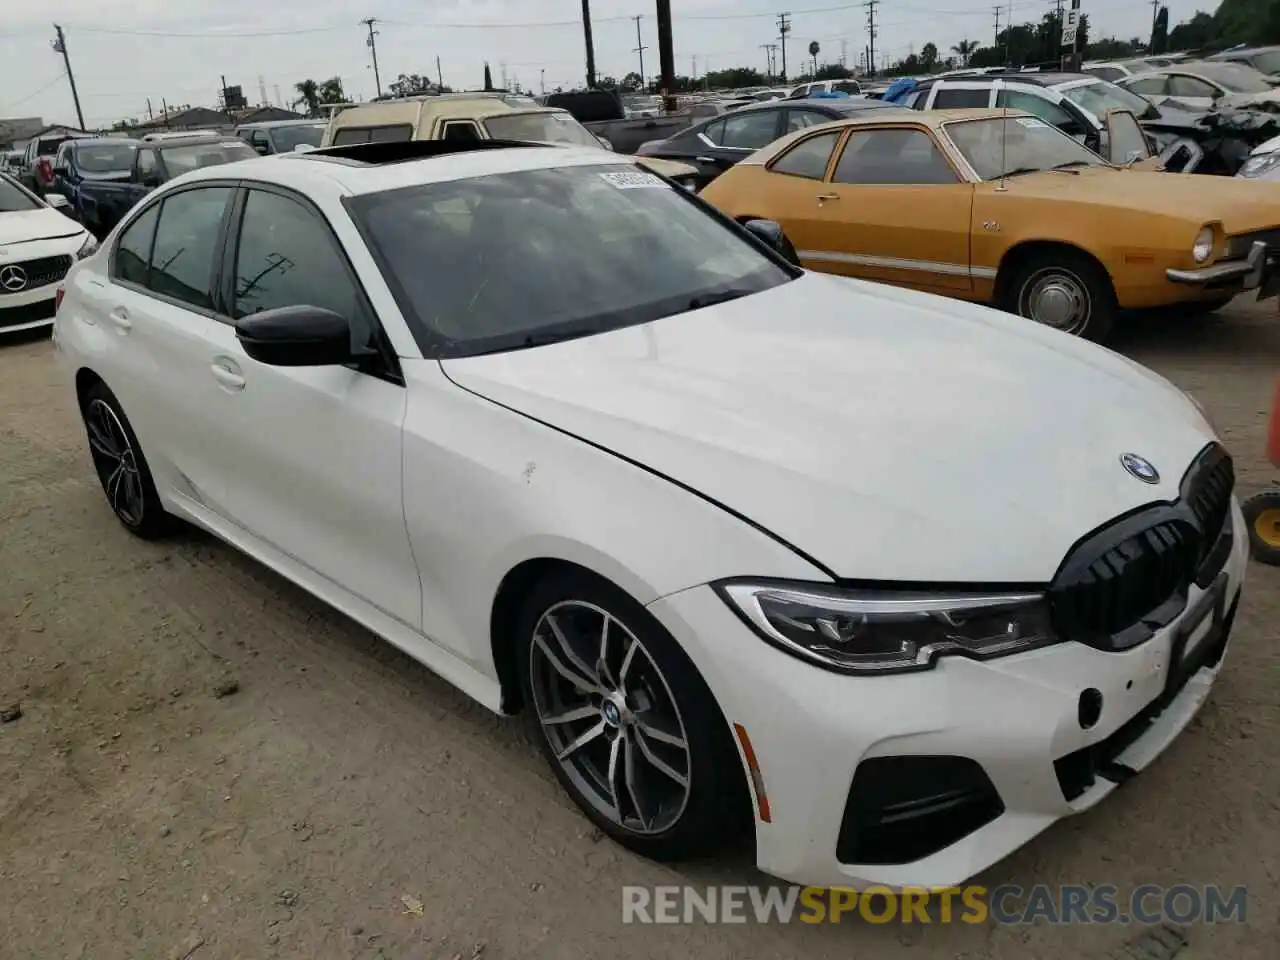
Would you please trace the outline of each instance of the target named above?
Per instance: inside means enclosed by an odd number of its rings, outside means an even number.
[[[99,381],[86,392],[81,417],[93,470],[115,518],[143,540],[170,532],[173,517],[160,503],[138,438],[105,383]]]

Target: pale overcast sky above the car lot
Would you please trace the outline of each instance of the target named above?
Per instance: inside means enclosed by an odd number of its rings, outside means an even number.
[[[1069,3],[1070,0],[1068,0]],[[1037,20],[1055,0],[1005,0],[1015,23]],[[1170,0],[1170,24],[1212,0]],[[864,4],[840,0],[672,0],[677,73],[765,67],[762,44],[777,42],[777,14],[791,14],[790,72],[820,45],[819,63],[852,64],[868,42]],[[289,105],[306,78],[342,77],[348,97],[376,93],[364,18],[375,17],[383,90],[401,73],[433,73],[479,87],[488,60],[495,83],[506,76],[535,92],[581,86],[584,44],[580,0],[10,0],[0,12],[0,118],[42,116],[76,123],[61,56],[51,47],[52,23],[67,36],[84,122],[106,125],[145,118],[147,97],[159,113],[170,105],[212,106],[221,77],[250,102]],[[900,59],[927,42],[942,56],[960,40],[989,44],[995,3],[982,0],[879,0],[877,60]],[[1084,0],[1093,38],[1151,32],[1151,0]],[[622,77],[639,70],[635,17],[645,74],[658,70],[653,0],[593,0],[596,70]]]

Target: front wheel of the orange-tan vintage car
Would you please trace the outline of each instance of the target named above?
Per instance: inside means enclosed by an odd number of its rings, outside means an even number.
[[[1016,264],[1002,301],[1010,314],[1094,342],[1111,333],[1117,311],[1107,271],[1065,247],[1037,251]]]

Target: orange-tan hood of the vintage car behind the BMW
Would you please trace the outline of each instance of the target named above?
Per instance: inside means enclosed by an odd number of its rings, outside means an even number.
[[[1260,204],[1254,187],[1231,177],[1094,166],[1076,174],[1023,174],[1005,183],[1010,196],[1075,200],[1206,223],[1221,220],[1228,233],[1244,233],[1280,221],[1280,205]]]

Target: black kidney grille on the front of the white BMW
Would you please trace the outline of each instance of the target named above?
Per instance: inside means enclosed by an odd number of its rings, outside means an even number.
[[[1144,507],[1076,544],[1048,591],[1057,630],[1124,650],[1172,622],[1189,585],[1203,586],[1225,562],[1234,486],[1231,458],[1212,444],[1188,468],[1176,502]]]

